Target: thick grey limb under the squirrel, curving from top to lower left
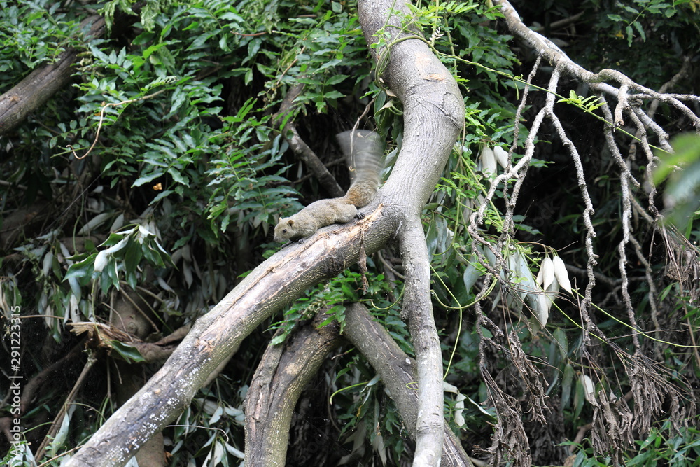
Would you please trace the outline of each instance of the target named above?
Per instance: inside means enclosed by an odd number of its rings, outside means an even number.
[[[386,24],[392,4],[360,1],[365,37],[372,38]],[[304,244],[288,246],[256,267],[197,320],[165,365],[67,466],[123,466],[146,440],[179,416],[209,373],[262,321],[307,288],[356,263],[361,249],[367,254],[377,251],[409,218],[419,216],[463,125],[463,101],[454,78],[421,41],[391,46],[386,80],[404,104],[405,138],[391,176],[374,203],[365,208],[367,217],[351,225],[321,229]],[[419,355],[419,365],[421,358]],[[440,391],[442,394],[442,388]],[[419,417],[423,412],[419,407]]]

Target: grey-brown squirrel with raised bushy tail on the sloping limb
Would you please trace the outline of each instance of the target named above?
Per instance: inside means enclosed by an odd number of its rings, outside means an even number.
[[[352,183],[347,193],[343,197],[312,202],[297,214],[281,218],[274,228],[275,242],[304,239],[326,225],[364,217],[357,208],[370,204],[377,193],[384,148],[379,135],[369,130],[342,132],[337,134],[337,140],[351,165]]]

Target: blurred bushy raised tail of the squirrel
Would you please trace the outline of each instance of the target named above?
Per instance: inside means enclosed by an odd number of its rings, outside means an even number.
[[[337,134],[338,143],[350,165],[352,204],[363,207],[374,199],[384,169],[384,144],[370,130],[349,130]]]

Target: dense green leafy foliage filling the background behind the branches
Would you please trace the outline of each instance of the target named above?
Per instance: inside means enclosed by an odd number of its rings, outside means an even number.
[[[638,83],[659,88],[678,73],[684,57],[700,53],[696,0],[548,3],[515,6],[523,8],[528,24],[537,22],[545,34],[567,41],[570,57],[592,71],[619,69]],[[22,323],[23,339],[32,342],[23,348],[25,381],[69,349],[83,346],[81,337],[71,333],[71,322],[115,324],[115,302],[125,291],[137,291],[148,302],[154,328],[142,338],[153,342],[207,312],[242,274],[269,256],[277,248],[270,232],[277,218],[326,195],[290,151],[281,132],[286,121],[295,123],[345,186],[346,169],[336,163],[340,156],[333,135],[353,127],[365,108],[373,115],[361,125],[376,127],[387,139],[388,160],[400,147],[400,102],[386,92],[384,83],[374,81],[353,2],[162,1],[146,2],[141,11],[132,11],[137,5],[113,0],[83,9],[50,0],[0,1],[0,92],[31,69],[55,60],[65,48],[82,52],[72,87],[52,97],[13,133],[0,137],[0,307],[3,312],[19,307],[22,314],[41,316]],[[89,8],[102,8],[108,18],[106,39],[81,37],[78,25]],[[554,21],[579,12],[584,13],[582,19],[573,26],[551,29]],[[533,88],[531,100],[518,114],[526,88],[523,77],[534,57],[526,45],[506,34],[495,8],[473,1],[430,3],[416,6],[414,13],[407,22],[422,32],[454,73],[467,109],[463,137],[423,216],[445,380],[455,388],[446,393],[445,414],[470,454],[474,446],[488,447],[498,419],[487,403],[489,386],[481,375],[482,370],[490,372],[521,403],[533,463],[561,465],[569,453],[560,443],[573,440],[594,416],[585,377],[596,376],[596,393],[602,390],[621,398],[630,390],[630,378],[621,369],[624,361],[615,355],[634,353],[630,330],[636,326],[644,331],[642,354],[668,369],[668,382],[684,394],[698,387],[700,360],[693,340],[700,322],[697,284],[689,284],[689,276],[668,273],[666,262],[672,253],[657,242],[653,224],[638,221],[635,235],[651,265],[647,270],[644,256],[626,265],[637,324],[629,322],[617,251],[623,235],[619,172],[603,147],[600,102],[573,80],[558,90],[556,109],[587,170],[596,207],[596,273],[609,279],[598,281],[591,314],[617,347],[602,340],[593,346],[584,342],[577,292],[583,293],[586,284],[584,208],[573,163],[551,127],[537,136],[540,144],[517,206],[509,214],[508,190],[514,181],[498,186],[479,226],[486,244],[476,242],[468,232],[470,216],[482,204],[493,174],[503,173],[496,162],[486,160],[484,148],[507,152],[513,146],[511,166],[520,160],[551,70],[543,67],[535,77],[539,91]],[[296,99],[299,105],[293,113],[279,116],[286,92],[298,83],[304,84]],[[676,90],[697,93],[693,85],[684,76]],[[662,105],[659,114],[657,121],[668,132],[692,130],[668,106]],[[629,151],[631,139],[619,139]],[[686,141],[678,153],[691,167],[687,173],[696,174],[696,140]],[[630,158],[629,165],[644,179],[647,162],[642,157]],[[658,183],[663,183],[663,175]],[[669,193],[676,197],[697,190],[696,181],[673,177]],[[635,188],[633,196],[646,205],[648,192],[643,188]],[[681,203],[680,233],[673,230],[671,235],[696,261],[699,214],[689,201]],[[485,279],[497,264],[489,245],[514,271],[503,273],[501,283]],[[364,295],[360,274],[347,271],[307,291],[284,316],[248,337],[222,374],[165,432],[172,465],[238,465],[244,448],[241,401],[260,354],[271,339],[282,342],[318,309],[330,308],[343,323],[343,303],[362,300],[412,354],[405,323],[398,317],[402,285],[388,267],[395,253],[386,249],[382,254],[381,261],[368,260],[371,287]],[[573,291],[564,292],[566,284],[557,270],[549,284],[562,290],[554,300],[554,288],[547,289],[551,295],[541,295],[535,277],[547,261],[560,257],[573,266],[568,270]],[[520,284],[522,293],[508,288],[508,281]],[[654,284],[656,291],[650,291]],[[488,295],[482,293],[484,288]],[[551,298],[544,329],[528,311],[545,306],[538,302],[540,297]],[[527,382],[511,371],[510,356],[485,354],[480,346],[498,336],[477,325],[472,313],[476,301],[494,326],[520,343],[540,372],[552,407],[546,428],[525,413],[531,393]],[[274,330],[278,332],[273,337]],[[80,404],[69,411],[70,424],[56,436],[50,452],[77,447],[116,409],[109,386],[116,376],[106,368],[113,359],[134,362],[139,355],[117,342],[109,350],[91,350],[104,369],[92,370],[97,377],[83,386]],[[6,351],[0,351],[0,361],[5,361]],[[343,355],[324,367],[328,378],[318,377],[302,396],[316,405],[313,417],[306,415],[308,423],[324,433],[323,442],[337,447],[332,449],[335,457],[323,453],[328,456],[326,465],[335,465],[343,455],[349,457],[348,465],[377,464],[379,459],[404,465],[412,444],[374,370],[353,349],[338,354]],[[23,416],[23,426],[33,428],[26,434],[33,449],[47,429],[41,424],[55,417],[82,365],[76,358],[55,384],[43,386]],[[154,369],[151,366],[147,372]],[[9,372],[4,367],[2,371]],[[6,386],[0,388],[4,396]],[[334,403],[327,407],[323,398],[330,393],[335,393]],[[692,404],[687,400],[682,405]],[[0,417],[9,410],[9,405],[0,407]],[[332,424],[326,420],[329,412],[336,418]],[[303,423],[297,423],[297,432],[303,432]],[[687,425],[697,426],[698,420],[689,419]],[[685,428],[676,433],[664,417],[657,417],[650,432],[638,433],[636,443],[621,455],[627,465],[694,465],[700,457],[697,434]],[[612,454],[596,452],[593,446],[588,438],[580,440],[572,451],[575,466],[610,465]],[[4,454],[8,444],[3,440],[0,447]],[[296,449],[296,454],[303,451]],[[29,454],[20,450],[10,452],[6,461],[22,465]]]

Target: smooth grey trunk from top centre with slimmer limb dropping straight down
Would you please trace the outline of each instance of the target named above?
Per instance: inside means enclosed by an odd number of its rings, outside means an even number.
[[[407,266],[404,309],[408,312],[419,368],[414,466],[437,466],[443,435],[442,356],[430,302],[428,251],[419,216],[463,127],[464,106],[449,71],[426,43],[405,39],[408,34],[403,32],[402,23],[411,16],[403,2],[361,0],[358,12],[367,43],[379,43],[377,36],[386,41],[371,50],[380,64],[388,57],[388,67],[381,78],[401,99],[405,110],[403,146],[383,190],[402,196],[394,197],[388,205],[400,209],[398,235]],[[419,169],[421,166],[423,170]],[[430,176],[427,183],[413,178],[425,174]],[[420,186],[423,190],[405,197],[406,186]]]

